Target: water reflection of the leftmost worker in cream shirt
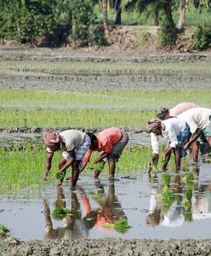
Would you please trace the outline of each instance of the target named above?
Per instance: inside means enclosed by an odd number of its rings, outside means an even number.
[[[71,213],[62,218],[63,227],[58,227],[57,229],[53,228],[48,201],[43,200],[43,206],[46,219],[46,239],[65,238],[71,240],[88,237],[88,229],[81,218],[81,212],[79,211],[80,205],[75,193],[71,193]],[[57,186],[57,201],[55,202],[55,207],[66,207],[65,197],[62,188],[59,186]]]

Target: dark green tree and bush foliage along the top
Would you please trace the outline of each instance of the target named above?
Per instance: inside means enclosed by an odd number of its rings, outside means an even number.
[[[188,4],[185,9],[188,12],[192,9],[197,13],[211,12],[211,0],[194,0],[186,3]],[[95,5],[99,5],[97,14],[94,12]],[[162,44],[172,45],[177,35],[172,11],[178,11],[180,5],[181,0],[0,1],[0,39],[12,39],[41,46],[69,44],[71,40],[80,45],[106,44],[105,32],[108,31],[109,22],[107,14],[113,9],[113,12],[116,12],[116,25],[121,24],[123,11],[127,15],[135,11],[153,17],[154,25],[161,26],[159,36],[162,38]],[[201,34],[202,32],[198,33]],[[198,42],[207,42],[209,37],[200,40],[197,39]]]

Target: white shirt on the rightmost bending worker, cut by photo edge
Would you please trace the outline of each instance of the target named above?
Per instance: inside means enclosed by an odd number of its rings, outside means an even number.
[[[191,134],[193,134],[197,128],[203,130],[208,126],[210,115],[210,108],[191,108],[180,113],[177,117],[190,126]]]

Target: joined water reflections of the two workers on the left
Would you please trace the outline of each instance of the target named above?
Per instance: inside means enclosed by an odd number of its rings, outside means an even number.
[[[104,225],[115,224],[120,218],[126,218],[121,204],[117,201],[115,195],[114,183],[109,183],[108,194],[104,185],[100,182],[95,183],[96,192],[91,192],[89,197],[97,203],[98,207],[92,207],[88,195],[82,187],[77,187],[77,192],[71,192],[71,211],[61,219],[61,227],[54,229],[52,212],[48,206],[48,201],[43,200],[45,217],[45,235],[44,239],[78,239],[88,238],[88,230],[106,230]],[[80,205],[80,202],[81,205]],[[66,199],[63,189],[57,186],[57,199],[54,202],[55,207],[66,209]],[[84,216],[82,214],[84,212]],[[108,232],[114,230],[107,230]]]

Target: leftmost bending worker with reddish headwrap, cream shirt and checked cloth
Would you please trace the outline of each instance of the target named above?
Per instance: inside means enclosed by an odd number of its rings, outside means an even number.
[[[44,143],[47,146],[47,160],[45,162],[43,178],[48,178],[54,152],[61,149],[62,155],[59,162],[59,171],[65,175],[66,169],[71,166],[71,189],[74,190],[82,167],[83,157],[91,143],[90,138],[83,131],[77,130],[66,130],[60,133],[58,131],[46,131]]]

